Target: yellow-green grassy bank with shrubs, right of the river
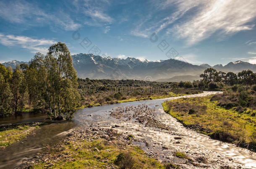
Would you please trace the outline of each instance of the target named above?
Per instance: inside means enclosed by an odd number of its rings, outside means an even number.
[[[165,112],[214,139],[230,142],[256,151],[255,110],[246,108],[238,111],[236,107],[226,109],[217,106],[211,96],[180,98],[162,104]]]

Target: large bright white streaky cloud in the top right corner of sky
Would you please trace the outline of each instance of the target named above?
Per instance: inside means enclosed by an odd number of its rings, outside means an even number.
[[[199,5],[202,10],[191,20],[169,29],[177,37],[187,39],[188,44],[198,43],[218,30],[220,35],[230,35],[254,27],[248,24],[256,16],[254,0],[210,0]]]

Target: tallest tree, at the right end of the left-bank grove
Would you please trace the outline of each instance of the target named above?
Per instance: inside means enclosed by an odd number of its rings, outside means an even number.
[[[68,102],[73,101],[76,103],[79,99],[78,97],[73,97],[74,94],[77,94],[75,92],[77,92],[78,83],[71,54],[65,43],[58,42],[50,46],[47,58],[49,58],[50,61],[51,86],[54,88],[52,96],[54,97],[53,103],[57,103],[58,117],[62,118],[62,114],[65,114],[66,117],[70,116],[73,114],[73,110],[71,110],[74,108],[73,105],[63,104],[67,103],[68,100]],[[66,91],[69,91],[68,95]]]

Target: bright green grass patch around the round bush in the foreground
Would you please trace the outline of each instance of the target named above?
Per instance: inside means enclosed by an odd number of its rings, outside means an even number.
[[[33,166],[34,169],[60,168],[60,169],[84,169],[84,168],[107,168],[115,166],[116,168],[148,168],[165,169],[155,159],[147,158],[144,151],[137,146],[127,146],[125,151],[114,145],[110,145],[104,139],[94,141],[70,141],[65,144],[65,150],[49,150],[52,156],[60,156],[59,161],[41,162]],[[52,163],[52,166],[48,166]]]

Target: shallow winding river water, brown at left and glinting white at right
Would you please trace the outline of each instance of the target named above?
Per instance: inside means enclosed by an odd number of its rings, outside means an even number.
[[[72,121],[61,121],[44,125],[29,134],[26,139],[18,141],[8,146],[3,151],[0,151],[0,168],[15,168],[18,164],[21,164],[21,161],[26,161],[27,159],[33,158],[38,153],[42,153],[47,145],[51,146],[55,144],[56,141],[71,132],[75,127],[86,128],[89,126],[98,126],[109,128],[115,125],[124,126],[123,128],[116,128],[122,133],[136,135],[136,140],[133,141],[133,144],[140,146],[149,155],[157,153],[157,159],[159,161],[166,161],[169,159],[169,154],[172,154],[174,151],[181,151],[187,154],[203,154],[212,160],[215,160],[217,156],[218,160],[221,159],[222,161],[232,159],[231,166],[233,167],[239,165],[242,166],[242,168],[256,168],[255,153],[247,149],[238,148],[232,144],[210,139],[208,136],[186,129],[176,119],[166,114],[161,106],[161,103],[166,100],[182,97],[206,96],[214,93],[218,92],[204,92],[196,95],[119,103],[78,110]],[[157,119],[168,126],[171,131],[142,127],[132,119],[125,121],[110,116],[109,111],[112,109],[120,106],[137,106],[139,104],[146,104],[152,107],[159,105],[157,106]],[[40,117],[36,117],[35,119],[38,120]],[[24,120],[26,119],[21,119],[21,122]],[[10,123],[10,121],[8,123]],[[0,124],[3,124],[3,122]],[[180,144],[175,144],[175,136],[181,137]],[[149,146],[146,146],[145,142],[148,142]],[[162,146],[168,149],[160,149]],[[218,160],[216,159],[216,163],[218,163]]]

